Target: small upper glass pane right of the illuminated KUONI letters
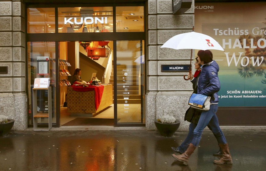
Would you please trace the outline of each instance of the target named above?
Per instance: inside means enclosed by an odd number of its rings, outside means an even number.
[[[116,7],[116,32],[144,32],[144,7]]]

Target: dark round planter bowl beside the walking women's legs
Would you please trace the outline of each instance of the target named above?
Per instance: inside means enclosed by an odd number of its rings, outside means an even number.
[[[155,121],[155,126],[162,136],[173,136],[176,130],[179,128],[180,121],[176,120],[175,123],[161,123]]]

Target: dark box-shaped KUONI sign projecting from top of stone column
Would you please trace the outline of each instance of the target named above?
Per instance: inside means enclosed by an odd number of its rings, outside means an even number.
[[[182,15],[191,8],[192,0],[172,0],[173,14]]]

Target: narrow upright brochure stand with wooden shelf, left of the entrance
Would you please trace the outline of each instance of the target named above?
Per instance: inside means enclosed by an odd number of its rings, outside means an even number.
[[[37,90],[48,90],[48,113],[37,113]],[[52,93],[51,87],[48,88],[33,88],[33,130],[34,131],[49,131],[52,128]],[[48,118],[48,127],[38,127],[39,118]]]

